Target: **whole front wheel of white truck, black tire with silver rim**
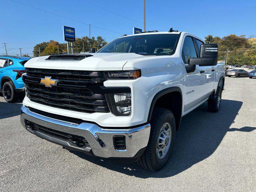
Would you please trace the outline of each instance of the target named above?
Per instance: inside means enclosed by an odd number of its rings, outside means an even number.
[[[145,169],[158,171],[168,161],[176,134],[175,118],[170,110],[155,108],[150,122],[148,146],[138,160]]]

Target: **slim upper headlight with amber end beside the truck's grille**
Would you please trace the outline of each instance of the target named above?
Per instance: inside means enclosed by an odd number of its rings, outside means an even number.
[[[141,76],[140,70],[105,72],[106,79],[137,79],[140,76]]]

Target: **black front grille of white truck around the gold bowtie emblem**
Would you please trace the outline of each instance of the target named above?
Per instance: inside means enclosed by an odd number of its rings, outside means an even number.
[[[26,74],[58,80],[52,87],[25,80],[27,96],[33,102],[79,112],[109,112],[105,95],[97,93],[105,80],[103,72],[26,68]]]

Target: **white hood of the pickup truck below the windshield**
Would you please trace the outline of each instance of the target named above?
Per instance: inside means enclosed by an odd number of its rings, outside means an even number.
[[[36,57],[28,60],[25,67],[68,69],[68,70],[122,70],[127,61],[145,58],[135,53],[88,53],[92,55],[82,60],[46,60],[49,56]]]

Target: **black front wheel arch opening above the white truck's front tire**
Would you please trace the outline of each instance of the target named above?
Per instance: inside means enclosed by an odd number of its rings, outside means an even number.
[[[170,98],[170,100],[166,100],[167,98]],[[176,130],[178,130],[182,117],[182,104],[182,91],[180,87],[175,86],[161,90],[154,96],[150,104],[148,122],[150,122],[152,118],[152,113],[155,107],[166,108],[171,110],[174,114]]]

